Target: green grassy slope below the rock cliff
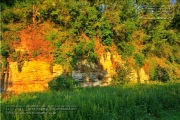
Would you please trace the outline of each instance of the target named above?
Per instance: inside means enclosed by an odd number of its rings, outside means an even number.
[[[180,119],[179,83],[83,88],[73,91],[26,93],[2,100],[2,118],[13,119]],[[8,106],[76,106],[55,114],[5,114]],[[25,109],[25,108],[23,108]],[[18,112],[20,113],[20,112]]]

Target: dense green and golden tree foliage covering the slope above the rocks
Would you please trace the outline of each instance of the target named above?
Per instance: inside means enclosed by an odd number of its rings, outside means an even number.
[[[18,32],[29,25],[38,27],[45,24],[51,25],[42,32],[55,47],[53,62],[71,70],[79,59],[87,58],[98,63],[95,51],[95,40],[98,38],[108,48],[115,43],[124,59],[135,59],[136,64],[132,67],[141,68],[153,61],[157,64],[154,71],[162,68],[160,71],[166,71],[163,73],[169,76],[153,77],[156,75],[152,75],[149,66],[146,72],[153,79],[178,78],[180,3],[170,4],[169,0],[3,0],[1,55],[17,61],[18,54],[13,50],[12,43],[20,41]],[[153,6],[158,8],[149,11],[148,8]],[[164,6],[171,11],[162,12]],[[39,54],[42,54],[40,50],[32,51],[33,58]]]

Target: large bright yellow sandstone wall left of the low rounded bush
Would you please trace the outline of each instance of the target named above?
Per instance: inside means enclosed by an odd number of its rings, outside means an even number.
[[[9,62],[11,86],[8,91],[14,93],[44,91],[48,82],[55,76],[61,75],[62,66],[55,64],[50,71],[50,64],[43,61],[25,61],[22,71],[18,71],[17,62]]]

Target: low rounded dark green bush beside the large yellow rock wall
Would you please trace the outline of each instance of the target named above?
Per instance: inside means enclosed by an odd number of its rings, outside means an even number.
[[[62,91],[73,89],[77,85],[77,82],[71,77],[66,77],[65,75],[58,76],[48,82],[50,90]]]

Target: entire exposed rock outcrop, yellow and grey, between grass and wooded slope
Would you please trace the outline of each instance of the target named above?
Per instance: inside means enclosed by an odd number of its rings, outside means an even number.
[[[123,61],[119,56],[107,52],[101,56],[99,64],[88,62],[86,59],[79,61],[72,71],[72,77],[80,82],[82,87],[106,86],[115,75],[116,64],[123,64]],[[48,82],[63,73],[61,65],[50,65],[48,62],[37,60],[24,61],[22,68],[19,67],[19,63],[9,62],[8,91],[14,93],[47,90]],[[136,70],[132,69],[128,77],[132,83],[137,83]],[[143,68],[139,71],[139,78],[141,83],[149,80]]]

